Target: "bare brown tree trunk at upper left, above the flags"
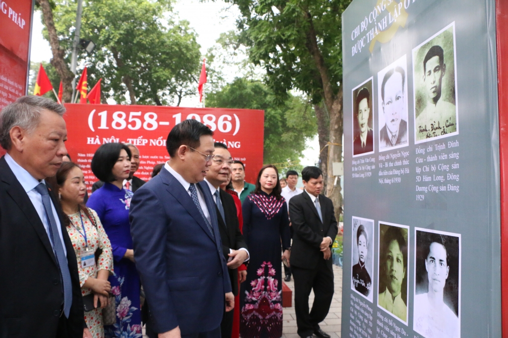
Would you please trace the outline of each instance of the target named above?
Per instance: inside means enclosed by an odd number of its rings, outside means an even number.
[[[36,2],[39,6],[41,6],[44,25],[48,29],[49,45],[51,46],[51,53],[53,54],[53,58],[50,60],[50,63],[55,67],[62,81],[62,103],[71,102],[72,80],[74,79],[74,74],[63,59],[65,53],[63,49],[60,48],[55,23],[53,21],[53,12],[51,11],[51,6],[49,5],[48,0],[36,0]]]

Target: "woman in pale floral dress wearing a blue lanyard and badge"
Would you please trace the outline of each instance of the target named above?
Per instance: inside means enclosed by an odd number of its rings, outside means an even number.
[[[86,185],[78,165],[63,163],[55,178],[62,210],[68,216],[64,223],[78,259],[85,322],[93,338],[103,338],[102,308],[108,305],[108,277],[113,272],[111,244],[97,213],[82,204]]]

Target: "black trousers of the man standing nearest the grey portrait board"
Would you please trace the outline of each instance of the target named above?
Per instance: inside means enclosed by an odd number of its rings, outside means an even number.
[[[333,270],[324,259],[313,269],[302,269],[295,266],[295,312],[298,335],[308,337],[319,329],[330,310],[333,298]],[[314,290],[314,303],[309,313],[309,295]]]

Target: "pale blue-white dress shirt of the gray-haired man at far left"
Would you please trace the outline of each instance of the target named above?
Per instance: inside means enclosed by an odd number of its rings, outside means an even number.
[[[5,161],[7,162],[9,168],[11,168],[12,172],[14,173],[14,176],[16,176],[17,180],[25,190],[25,193],[28,195],[28,198],[30,198],[30,201],[34,205],[37,214],[41,218],[42,225],[44,226],[44,229],[48,234],[49,242],[53,247],[54,244],[51,241],[50,234],[51,229],[49,229],[49,221],[48,217],[46,216],[46,211],[44,210],[44,204],[42,203],[42,196],[35,189],[35,187],[39,185],[41,182],[44,184],[46,184],[46,182],[44,180],[40,182],[34,176],[30,175],[30,173],[26,171],[23,167],[21,167],[19,164],[17,164],[16,161],[14,161],[14,159],[9,154],[5,154]],[[60,241],[62,242],[63,252],[67,256],[67,249],[65,247],[65,243],[63,242],[60,218],[58,217],[58,213],[56,212],[55,206],[53,205],[53,201],[51,201],[51,211],[53,211],[53,217],[55,218],[56,227],[58,228],[58,236],[60,237]]]

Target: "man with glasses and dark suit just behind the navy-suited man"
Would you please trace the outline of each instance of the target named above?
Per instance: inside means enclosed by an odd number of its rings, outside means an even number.
[[[212,165],[206,173],[205,180],[199,184],[203,189],[210,189],[216,204],[216,212],[219,223],[220,238],[223,243],[224,257],[228,261],[228,271],[231,280],[233,294],[238,294],[238,267],[248,259],[247,244],[243,239],[238,224],[236,206],[233,197],[220,189],[220,184],[226,183],[231,175],[233,159],[228,147],[220,142],[215,142]],[[223,338],[231,338],[233,330],[233,311],[224,312],[220,323],[220,333]]]

